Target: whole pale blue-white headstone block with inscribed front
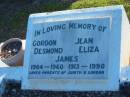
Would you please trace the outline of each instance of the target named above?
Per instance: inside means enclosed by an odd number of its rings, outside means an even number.
[[[118,90],[129,56],[123,23],[129,26],[122,6],[31,15],[22,88]]]

